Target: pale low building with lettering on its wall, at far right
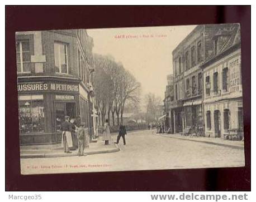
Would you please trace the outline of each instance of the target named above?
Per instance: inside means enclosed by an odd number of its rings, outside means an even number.
[[[219,29],[214,56],[203,63],[205,135],[243,139],[240,27]]]

